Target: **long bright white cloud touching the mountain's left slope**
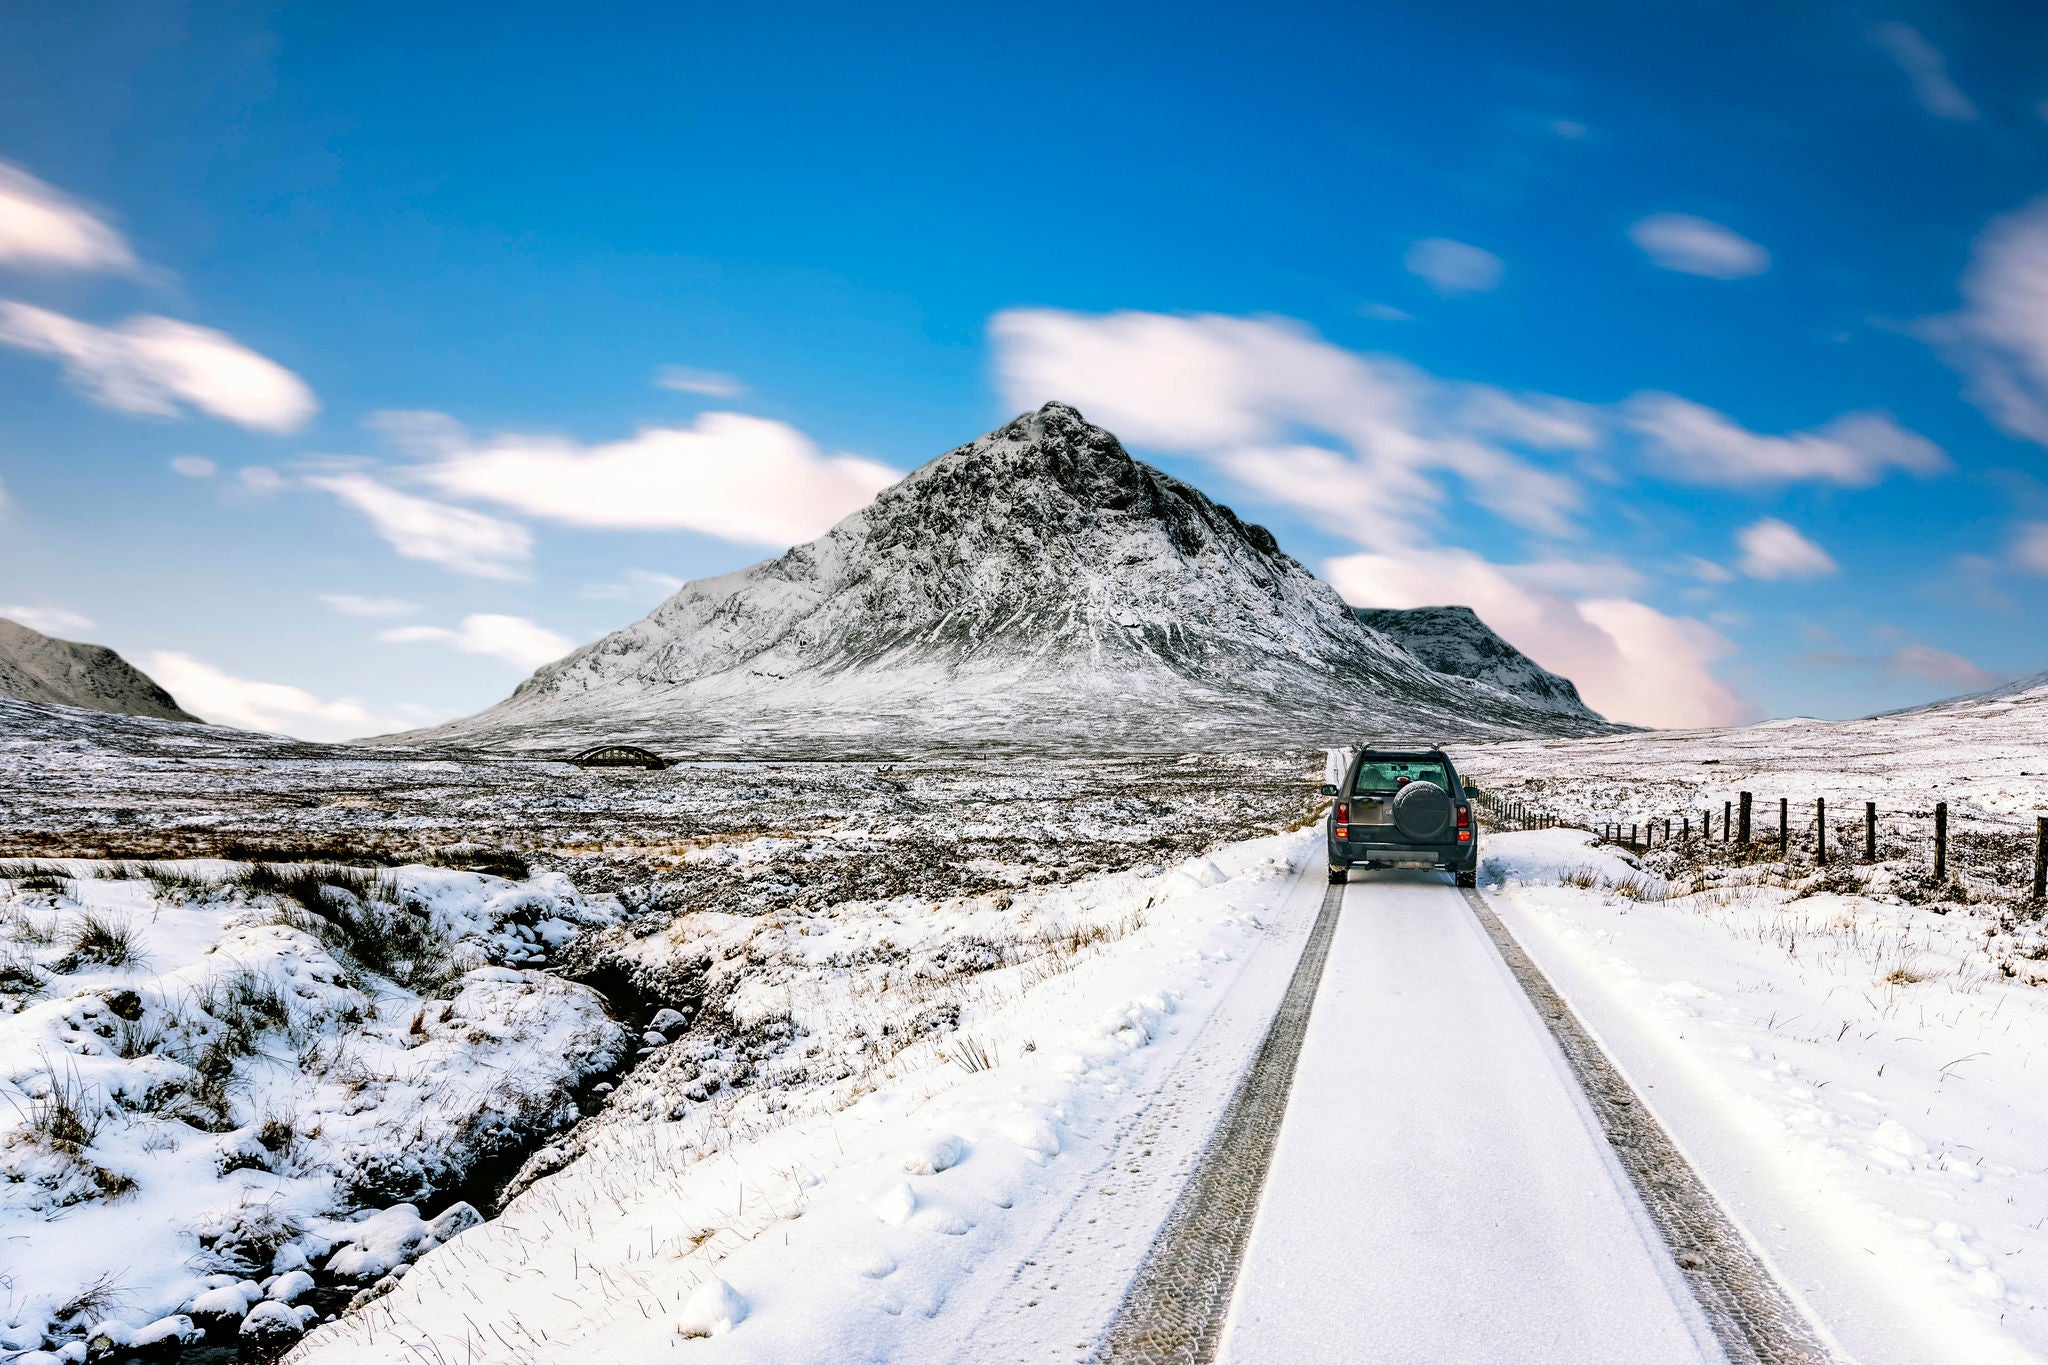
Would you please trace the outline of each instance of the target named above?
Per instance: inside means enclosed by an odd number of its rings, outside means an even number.
[[[444,444],[438,458],[408,473],[453,497],[571,526],[698,530],[768,546],[823,534],[903,477],[874,460],[823,454],[788,424],[729,411],[596,446],[541,434]]]

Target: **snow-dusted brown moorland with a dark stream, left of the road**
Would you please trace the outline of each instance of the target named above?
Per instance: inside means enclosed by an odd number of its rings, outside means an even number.
[[[625,1128],[649,1111],[709,1115],[754,1091],[774,1113],[813,1081],[844,1081],[827,1076],[842,1046],[856,1048],[850,1066],[866,1068],[950,1038],[944,1011],[897,1017],[897,1001],[924,990],[907,976],[1022,972],[1034,970],[1024,958],[1122,941],[1112,917],[1071,929],[1069,945],[1053,923],[1028,919],[1034,911],[1004,909],[1006,896],[1032,907],[1081,878],[1157,882],[1204,849],[1296,827],[1313,804],[1309,776],[1298,753],[592,774],[0,702],[0,862],[18,855],[16,872],[31,874],[0,880],[0,958],[12,964],[0,966],[0,1001],[16,1011],[0,1019],[0,1081],[23,1109],[0,1105],[0,1140],[39,1169],[88,1185],[98,1169],[113,1181],[66,1205],[31,1181],[0,1183],[4,1345],[82,1351],[109,1322],[170,1342],[188,1334],[184,1308],[229,1338],[229,1308],[295,1332],[295,1314],[287,1326],[283,1306],[252,1300],[274,1291],[330,1312],[387,1271],[401,1277],[467,1220],[457,1209],[430,1230],[449,1203],[494,1212],[498,1185],[547,1134],[612,1113],[604,1095],[621,1066],[647,1072],[621,1081]],[[319,862],[336,857],[358,866]],[[541,913],[549,902],[557,909]],[[399,915],[408,905],[428,913]],[[88,917],[111,933],[94,931],[96,948],[76,954]],[[426,958],[408,929],[416,921],[436,925]],[[829,939],[838,948],[815,962],[795,952],[825,943],[823,925],[844,925]],[[1030,943],[1014,943],[1018,933]],[[141,956],[109,950],[109,937]],[[764,1013],[762,995],[778,986],[801,999],[815,982],[848,980],[846,954],[858,972],[895,982],[868,1009],[868,1033],[811,1019],[805,1027],[823,1031],[807,1038]],[[473,964],[494,970],[459,970]],[[516,1013],[514,993],[528,1013]],[[82,1027],[49,1023],[88,999],[98,1005]],[[141,1019],[123,1017],[137,1007]],[[616,1046],[578,1056],[569,1029],[586,1025]],[[506,1078],[532,1093],[510,1107],[516,1121],[494,1128],[506,1095],[489,1087]],[[98,1128],[6,1138],[31,1128],[31,1093],[55,1097],[51,1081],[102,1097]],[[215,1109],[197,1107],[193,1089]],[[328,1117],[336,1095],[340,1113]],[[297,1115],[283,1154],[262,1144],[285,1138],[266,1126],[272,1111]],[[596,1121],[571,1128],[522,1185],[600,1132]],[[225,1146],[240,1154],[217,1154]],[[215,1232],[209,1209],[244,1203],[289,1216],[311,1289],[279,1271],[276,1228]],[[342,1226],[377,1209],[360,1228]],[[96,1218],[145,1236],[106,1244]],[[104,1244],[96,1261],[70,1250],[78,1234]],[[49,1244],[66,1254],[41,1257]],[[231,1265],[215,1254],[223,1244]],[[362,1244],[381,1250],[350,1250]],[[295,1265],[295,1250],[283,1261]],[[201,1289],[215,1295],[205,1306]],[[109,1349],[119,1334],[106,1334]]]

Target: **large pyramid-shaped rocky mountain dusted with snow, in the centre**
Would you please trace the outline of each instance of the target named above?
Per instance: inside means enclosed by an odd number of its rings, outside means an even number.
[[[410,741],[700,751],[1597,733],[1577,696],[1419,661],[1202,495],[1047,403],[825,536],[684,585]]]

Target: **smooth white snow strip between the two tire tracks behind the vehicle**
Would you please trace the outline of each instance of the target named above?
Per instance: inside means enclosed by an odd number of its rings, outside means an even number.
[[[1440,874],[1362,874],[1223,1359],[1720,1361],[1579,1083]]]

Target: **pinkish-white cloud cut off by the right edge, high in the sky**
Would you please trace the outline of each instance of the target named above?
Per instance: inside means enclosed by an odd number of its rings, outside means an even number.
[[[1978,233],[1962,301],[1925,334],[1970,377],[1970,399],[1993,422],[2048,446],[2048,196]]]

